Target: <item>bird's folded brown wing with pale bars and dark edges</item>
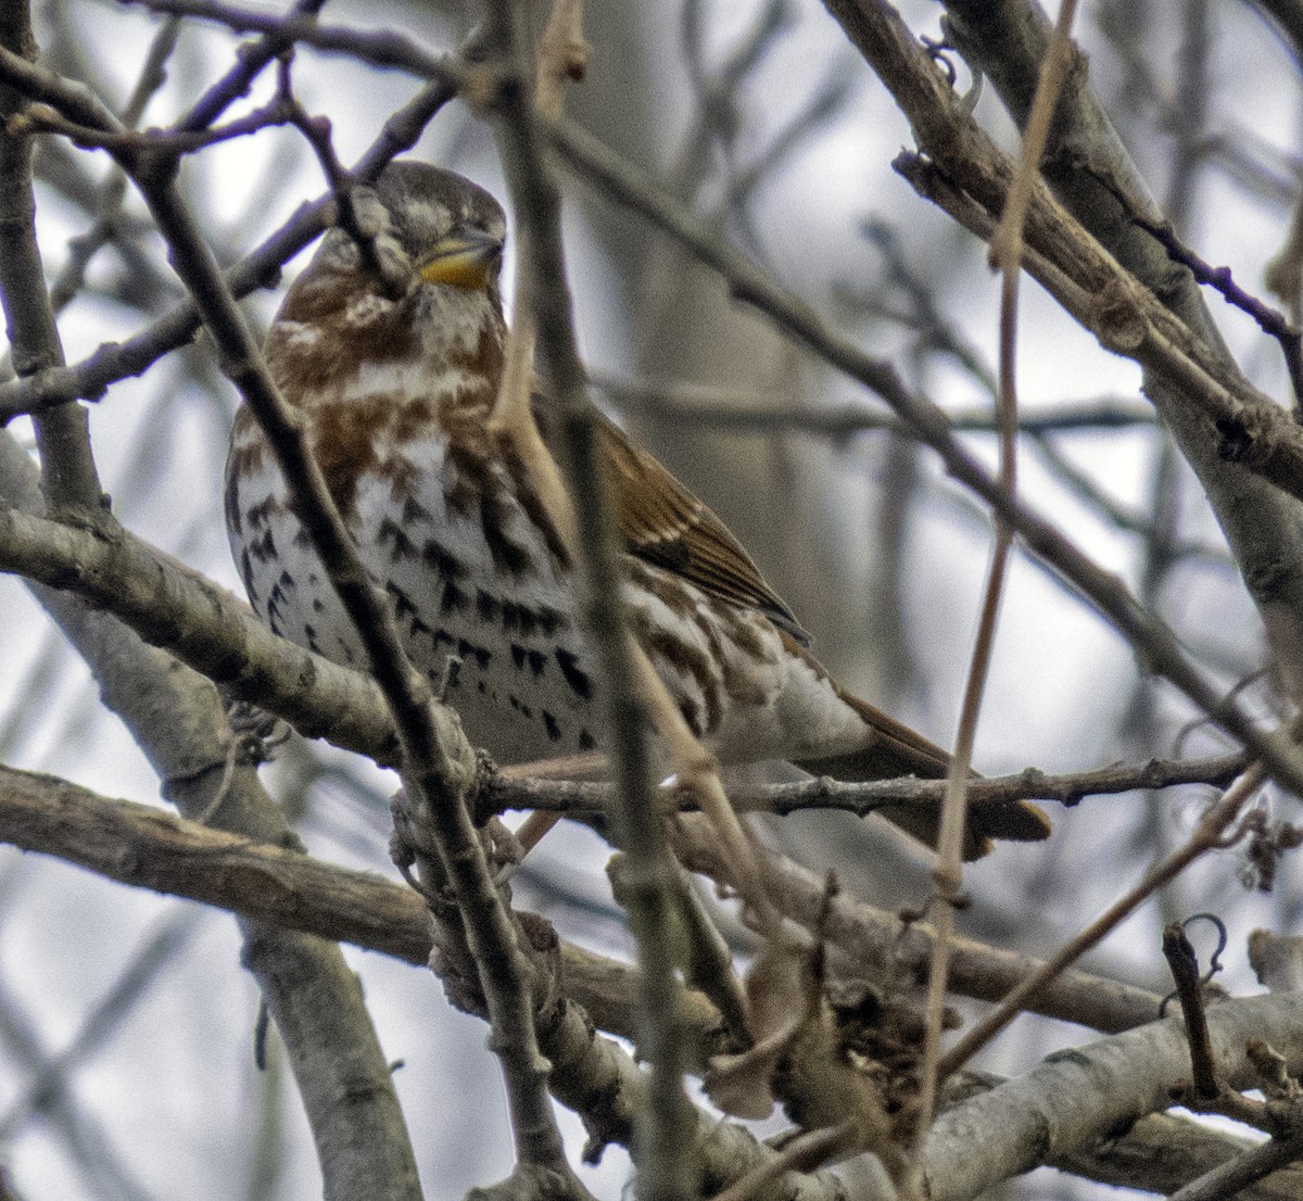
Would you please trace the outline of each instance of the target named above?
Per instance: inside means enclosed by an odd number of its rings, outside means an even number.
[[[598,418],[615,516],[632,555],[674,572],[702,591],[760,610],[801,645],[809,634],[728,528],[619,426]]]

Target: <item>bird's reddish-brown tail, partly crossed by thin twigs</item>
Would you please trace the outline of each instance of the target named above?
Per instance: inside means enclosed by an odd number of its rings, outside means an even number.
[[[864,718],[869,740],[859,750],[826,758],[797,759],[796,766],[813,775],[827,775],[846,783],[890,780],[916,775],[936,780],[950,769],[950,756],[939,746],[915,733],[908,726],[887,716],[880,709],[838,689],[842,699]],[[886,805],[877,810],[929,847],[937,845],[941,834],[941,806]],[[964,830],[966,860],[981,858],[992,849],[993,839],[1035,843],[1048,838],[1049,818],[1027,801],[982,805],[968,810]]]

